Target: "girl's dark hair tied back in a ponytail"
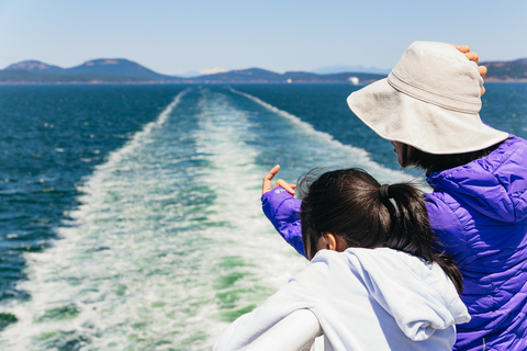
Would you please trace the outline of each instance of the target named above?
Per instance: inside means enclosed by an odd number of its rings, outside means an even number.
[[[298,189],[306,253],[314,254],[318,239],[332,233],[348,247],[386,247],[437,262],[461,293],[463,281],[455,262],[433,249],[435,237],[415,185],[397,183],[381,190],[373,177],[358,168],[317,177],[318,172],[315,169],[304,176]]]

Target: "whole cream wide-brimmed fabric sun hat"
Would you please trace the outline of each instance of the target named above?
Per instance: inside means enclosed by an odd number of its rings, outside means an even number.
[[[384,139],[446,155],[508,137],[480,118],[476,64],[450,44],[414,42],[388,78],[348,97],[351,111]]]

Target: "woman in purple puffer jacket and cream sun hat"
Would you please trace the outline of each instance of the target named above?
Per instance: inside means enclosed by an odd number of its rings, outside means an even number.
[[[482,87],[476,65],[456,48],[416,42],[348,105],[391,140],[401,167],[426,171],[437,249],[457,262],[472,317],[458,326],[455,350],[527,350],[527,141],[481,122]],[[264,212],[304,254],[300,201],[288,191],[266,191]]]

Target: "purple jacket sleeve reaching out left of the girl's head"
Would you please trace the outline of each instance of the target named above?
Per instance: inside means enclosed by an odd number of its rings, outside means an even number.
[[[261,195],[261,207],[283,239],[305,257],[300,225],[301,201],[277,186]]]

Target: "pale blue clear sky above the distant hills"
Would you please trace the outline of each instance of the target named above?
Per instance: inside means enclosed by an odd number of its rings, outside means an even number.
[[[0,0],[0,69],[127,58],[166,75],[391,68],[414,41],[527,57],[527,0]]]

